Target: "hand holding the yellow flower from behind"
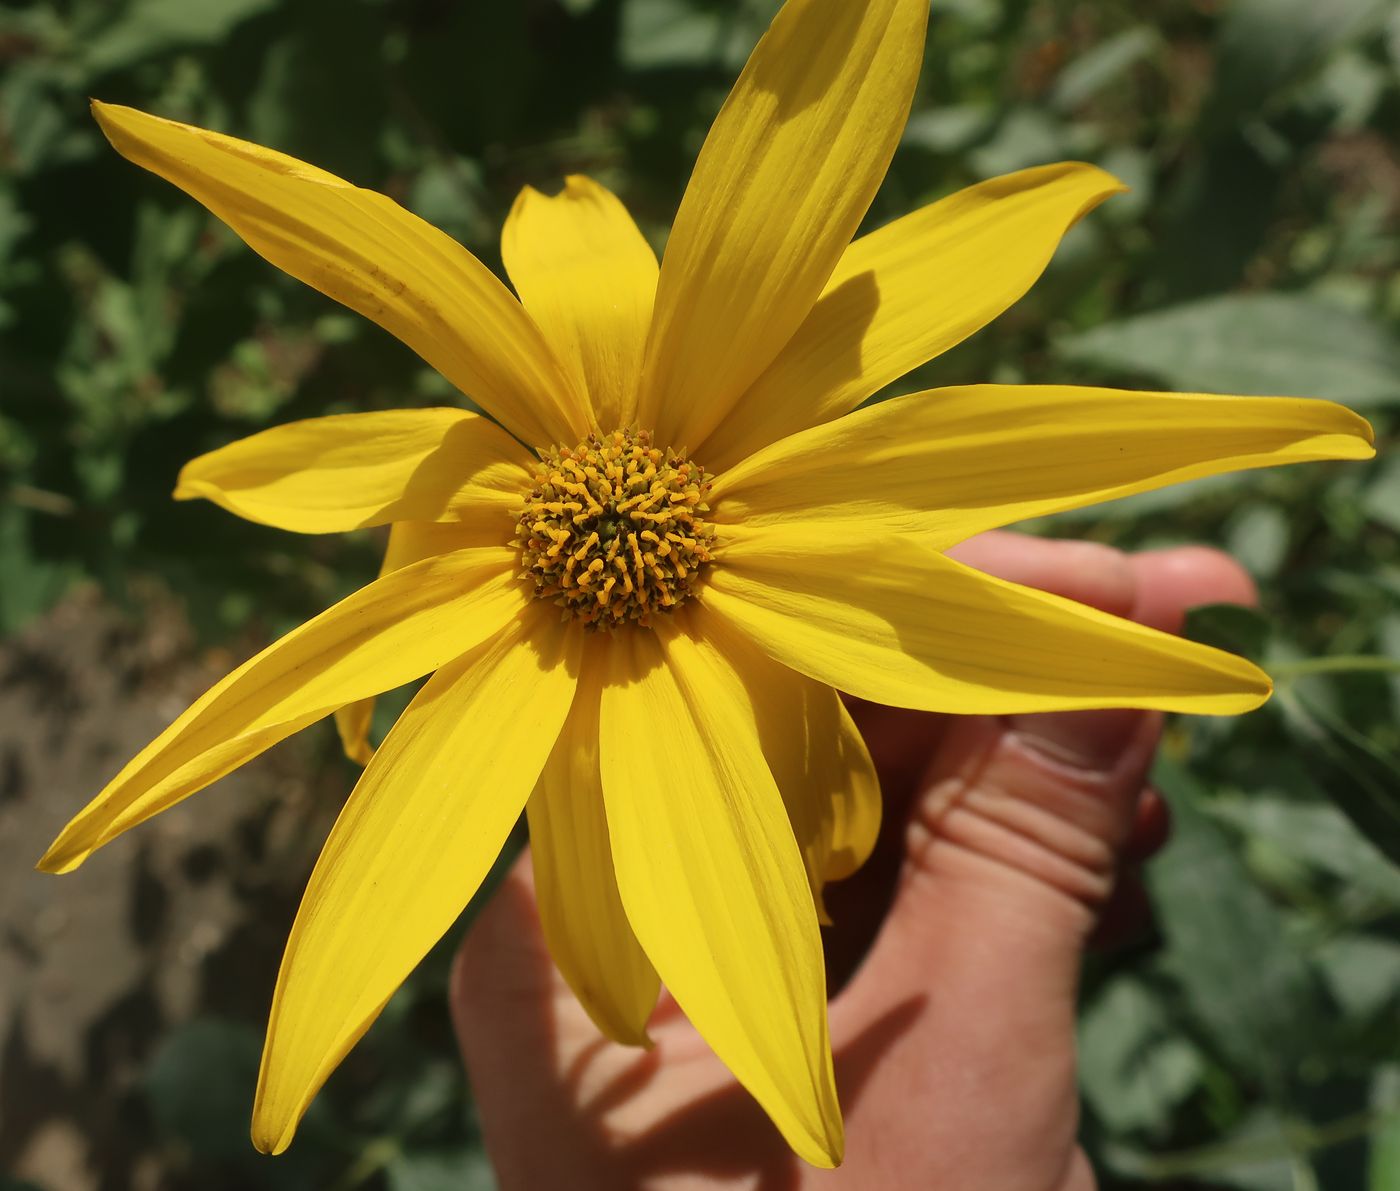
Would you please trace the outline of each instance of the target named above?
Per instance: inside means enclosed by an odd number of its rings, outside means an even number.
[[[1198,547],[1124,556],[990,533],[963,561],[1168,631],[1250,603]],[[599,1038],[554,971],[528,858],[468,933],[452,1013],[501,1187],[1091,1191],[1075,1142],[1075,994],[1096,929],[1131,919],[1165,838],[1144,788],[1161,717],[853,708],[881,773],[867,866],[825,931],[844,1164],[813,1170],[662,995],[655,1047]]]

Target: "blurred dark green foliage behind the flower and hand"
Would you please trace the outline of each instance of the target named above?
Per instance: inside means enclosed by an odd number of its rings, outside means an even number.
[[[493,266],[524,183],[616,189],[658,248],[776,0],[8,0],[0,8],[0,630],[70,585],[179,595],[211,640],[276,633],[377,543],[172,504],[181,463],[270,423],[456,400],[370,323],[120,161],[87,98],[305,157]],[[1400,1187],[1400,7],[1393,0],[941,0],[869,216],[1085,158],[1133,186],[1029,298],[900,383],[1295,392],[1362,407],[1382,458],[1060,518],[1217,542],[1259,616],[1193,631],[1280,694],[1176,724],[1149,866],[1159,933],[1092,966],[1085,1138],[1109,1185]],[[1387,136],[1387,130],[1392,136]],[[1039,526],[1036,526],[1039,528]],[[1387,859],[1389,858],[1389,859]],[[276,1163],[246,1146],[258,1016],[147,1073],[199,1187],[489,1187],[434,956]],[[183,1184],[181,1184],[183,1185]]]

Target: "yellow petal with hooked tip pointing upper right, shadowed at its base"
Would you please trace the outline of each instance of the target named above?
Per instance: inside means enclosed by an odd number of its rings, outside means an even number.
[[[1060,238],[1123,183],[1093,165],[979,182],[861,237],[822,298],[696,456],[711,472],[840,417],[1018,301]]]

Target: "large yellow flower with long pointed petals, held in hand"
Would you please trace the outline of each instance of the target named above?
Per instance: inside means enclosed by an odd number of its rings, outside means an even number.
[[[176,497],[302,533],[392,525],[381,578],[204,694],[63,831],[66,872],[340,714],[368,760],[277,981],[253,1139],[307,1104],[476,892],[521,810],[540,915],[599,1029],[658,978],[808,1162],[841,1157],[818,932],[879,795],[836,694],[945,712],[1233,714],[1249,662],[945,554],[1028,516],[1372,453],[1326,402],[1068,386],[867,397],[1021,297],[1121,186],[973,186],[851,244],[899,140],[927,0],[790,0],[700,154],[659,266],[585,178],[526,189],[517,301],[382,195],[95,105],[119,153],[374,319],[493,420],[350,414],[185,467]],[[364,700],[431,673],[370,757]]]

